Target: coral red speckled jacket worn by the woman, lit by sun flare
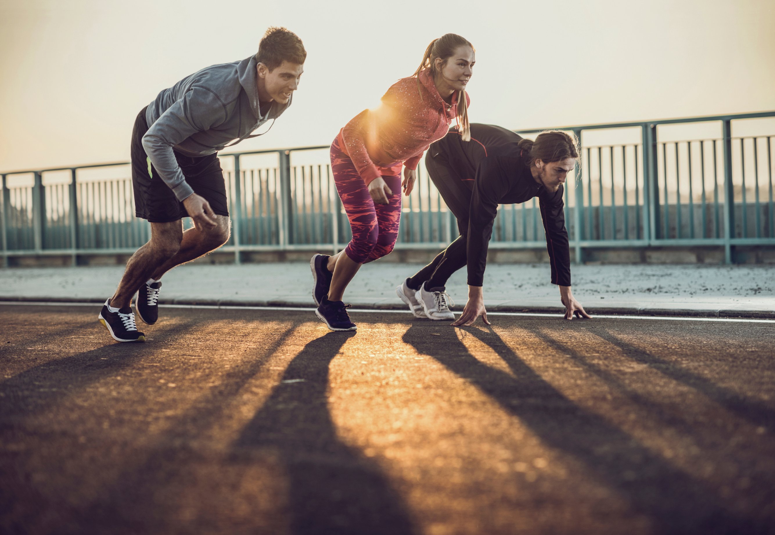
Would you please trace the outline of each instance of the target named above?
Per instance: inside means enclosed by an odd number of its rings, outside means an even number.
[[[416,169],[422,153],[446,136],[457,116],[459,91],[447,104],[429,69],[420,71],[419,79],[418,88],[417,78],[401,78],[384,94],[378,109],[364,109],[339,131],[339,146],[367,184],[382,175],[381,169],[401,162]],[[467,93],[466,102],[470,103]]]

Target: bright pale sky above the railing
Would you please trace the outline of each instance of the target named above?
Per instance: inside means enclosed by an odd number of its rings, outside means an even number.
[[[477,123],[775,109],[775,0],[0,0],[0,171],[129,160],[143,106],[254,54],[267,26],[304,40],[305,74],[271,132],[240,150],[330,143],[447,32],[477,49]]]

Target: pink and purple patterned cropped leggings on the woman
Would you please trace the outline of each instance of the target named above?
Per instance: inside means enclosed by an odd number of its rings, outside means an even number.
[[[398,223],[401,220],[401,164],[383,167],[382,179],[391,189],[389,204],[374,204],[369,188],[341,147],[339,140],[331,143],[331,171],[334,175],[336,192],[350,220],[353,239],[347,244],[345,253],[353,262],[365,264],[390,254],[398,238]],[[387,173],[390,174],[387,174]]]

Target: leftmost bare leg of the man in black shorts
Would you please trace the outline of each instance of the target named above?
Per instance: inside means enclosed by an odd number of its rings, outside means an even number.
[[[138,288],[177,254],[182,239],[183,223],[180,219],[170,223],[150,223],[150,240],[129,258],[110,305],[118,309],[128,307]]]

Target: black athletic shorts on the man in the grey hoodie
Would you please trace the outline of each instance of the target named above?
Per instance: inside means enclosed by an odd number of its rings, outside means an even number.
[[[188,216],[182,202],[179,202],[172,190],[167,187],[150,164],[143,136],[148,131],[146,108],[140,112],[132,130],[132,187],[135,193],[135,216],[148,219],[150,223],[169,223]],[[190,157],[174,150],[177,164],[181,166],[188,185],[197,195],[202,195],[210,203],[212,211],[219,216],[229,216],[226,205],[226,181],[218,160],[218,154],[202,157]]]

